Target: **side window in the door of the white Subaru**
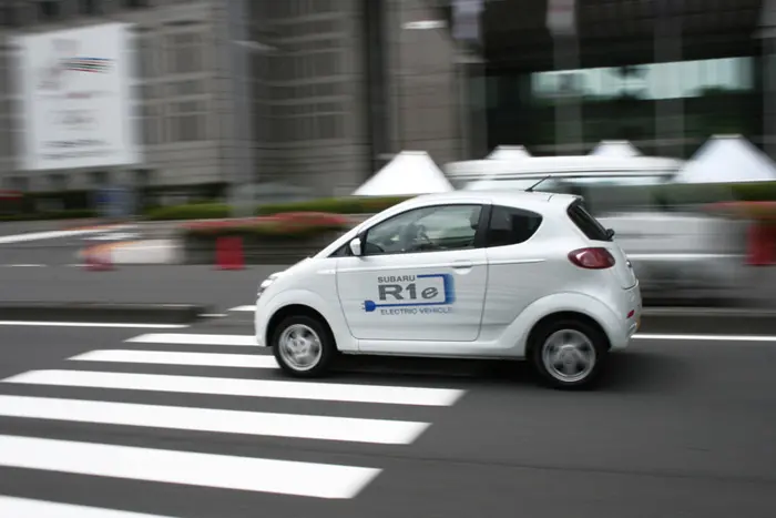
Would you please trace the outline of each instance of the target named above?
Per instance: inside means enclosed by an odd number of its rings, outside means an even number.
[[[481,205],[413,209],[369,228],[366,255],[410,254],[474,247]]]

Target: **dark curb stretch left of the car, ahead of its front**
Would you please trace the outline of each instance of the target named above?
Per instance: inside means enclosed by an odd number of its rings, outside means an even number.
[[[0,303],[0,321],[191,324],[206,313],[195,304]]]

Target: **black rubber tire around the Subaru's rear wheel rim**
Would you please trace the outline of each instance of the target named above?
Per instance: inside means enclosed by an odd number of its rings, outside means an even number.
[[[588,369],[582,369],[576,376],[569,376],[562,378],[559,375],[558,369],[549,368],[544,360],[545,351],[550,353],[552,351],[548,341],[553,337],[557,333],[569,332],[569,336],[573,338],[579,338],[584,336],[588,343],[584,345],[584,349],[592,351],[592,367]],[[564,318],[561,321],[549,322],[543,324],[540,328],[535,329],[531,336],[531,352],[530,360],[533,368],[539,374],[542,383],[547,386],[558,389],[584,389],[592,388],[599,379],[599,376],[604,367],[606,357],[609,355],[609,343],[606,336],[596,327],[578,319]],[[573,355],[574,353],[566,352],[565,355]],[[579,358],[576,358],[579,359]],[[572,364],[579,363],[571,362]]]

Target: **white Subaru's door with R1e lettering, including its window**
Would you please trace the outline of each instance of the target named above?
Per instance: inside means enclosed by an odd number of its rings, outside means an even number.
[[[337,291],[351,334],[365,341],[472,342],[488,281],[479,204],[411,209],[363,234],[340,257]]]

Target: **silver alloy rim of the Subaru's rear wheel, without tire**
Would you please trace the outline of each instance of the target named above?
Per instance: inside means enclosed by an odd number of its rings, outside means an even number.
[[[595,367],[595,347],[576,329],[560,329],[542,346],[542,363],[550,376],[564,383],[584,379]]]

